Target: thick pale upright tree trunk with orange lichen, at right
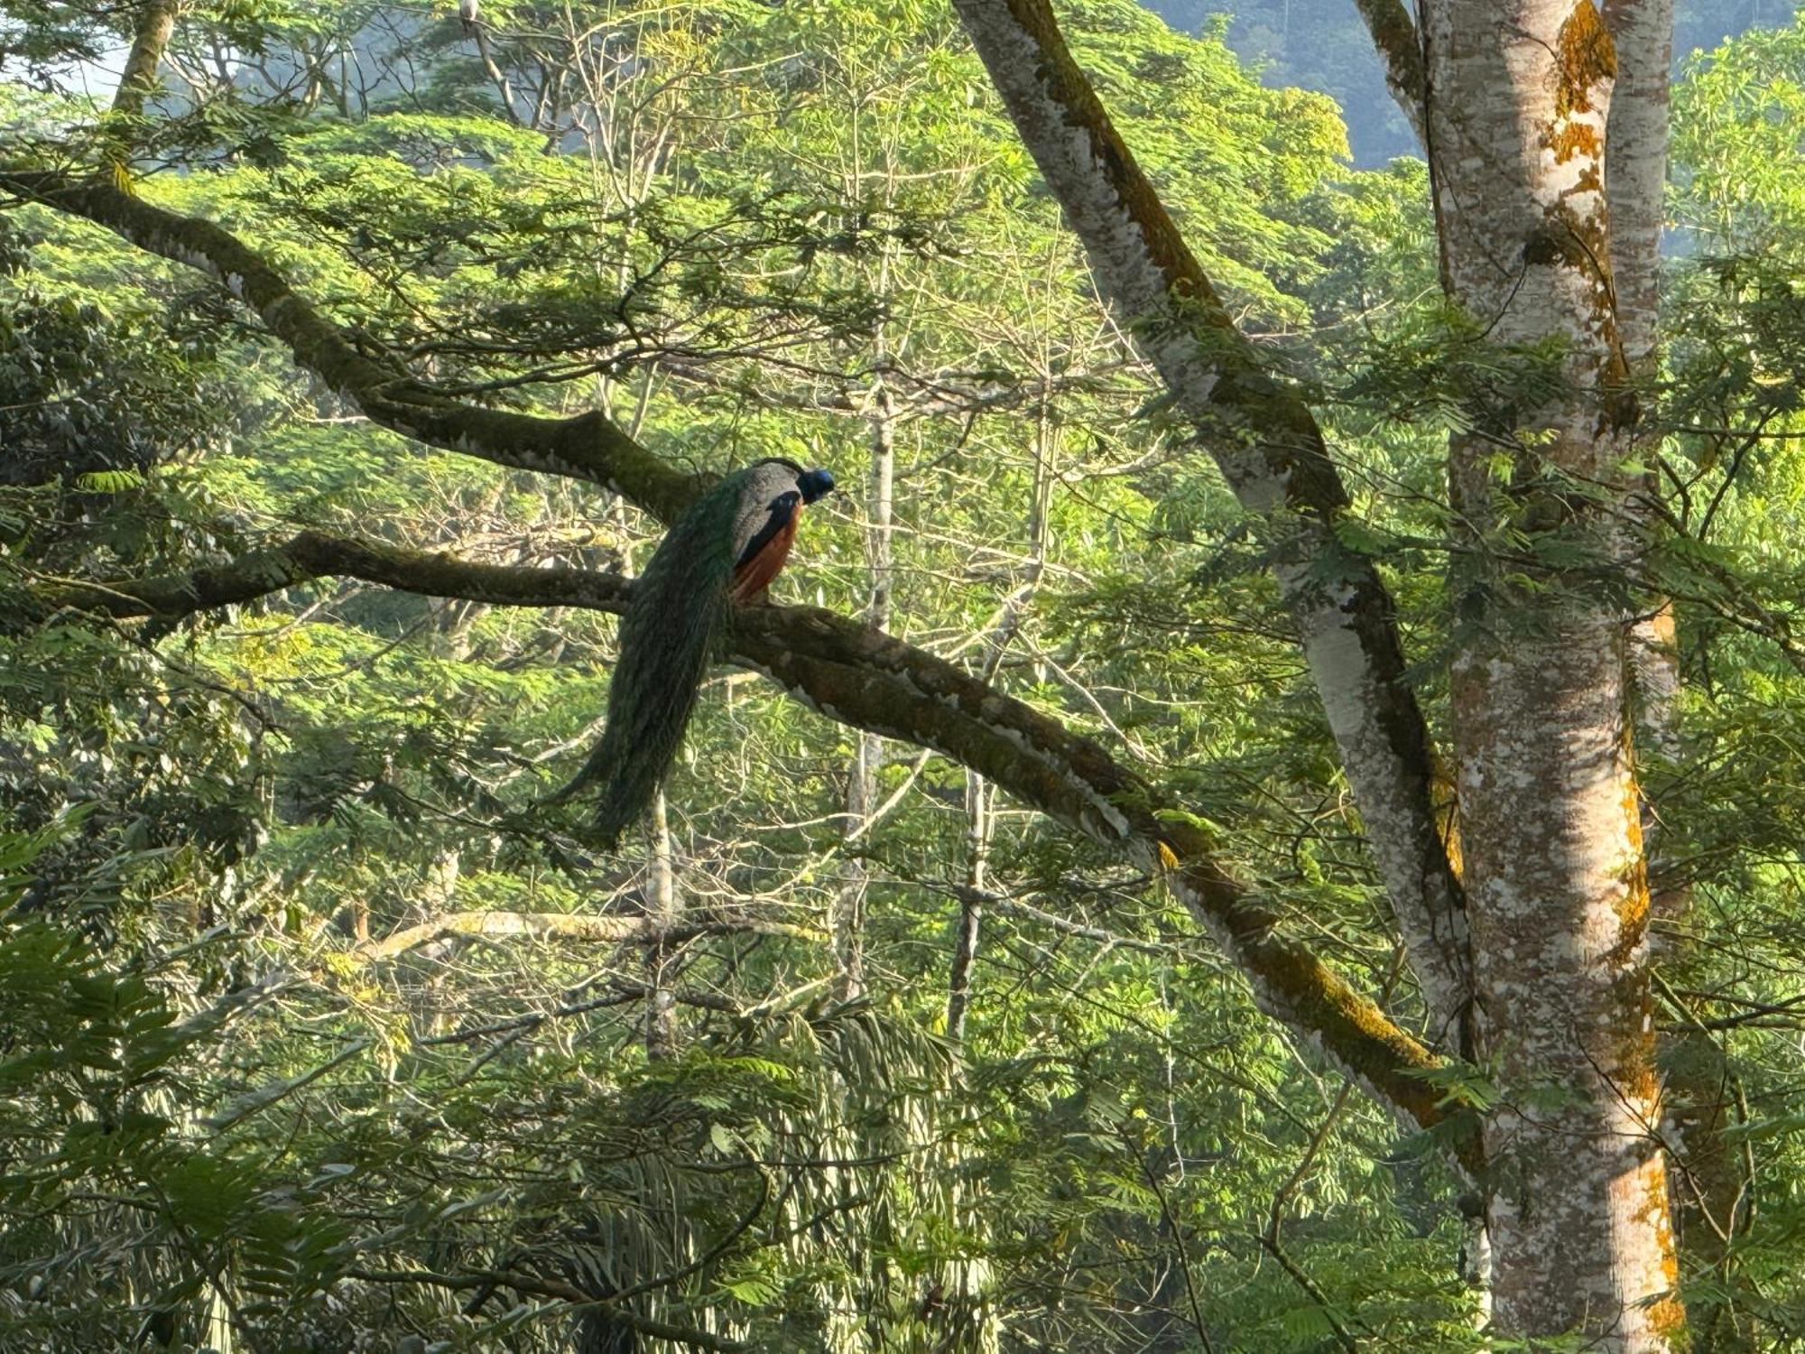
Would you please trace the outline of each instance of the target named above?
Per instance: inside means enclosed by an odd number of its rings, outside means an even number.
[[[1561,352],[1554,381],[1473,410],[1451,466],[1473,558],[1496,529],[1514,542],[1505,567],[1457,576],[1451,684],[1480,1038],[1500,1078],[1484,1123],[1495,1329],[1670,1350],[1684,1318],[1655,1132],[1628,616],[1543,554],[1608,563],[1630,500],[1605,204],[1615,54],[1592,0],[1437,0],[1424,18],[1449,296],[1500,350]]]

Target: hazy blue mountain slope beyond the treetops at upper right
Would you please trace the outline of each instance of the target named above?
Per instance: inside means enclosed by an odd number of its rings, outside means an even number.
[[[1354,162],[1384,164],[1417,144],[1384,90],[1379,58],[1354,0],[1144,0],[1182,32],[1227,22],[1227,43],[1264,67],[1267,85],[1301,85],[1334,96],[1347,117]],[[1673,54],[1717,47],[1753,23],[1787,23],[1787,0],[1679,0]]]

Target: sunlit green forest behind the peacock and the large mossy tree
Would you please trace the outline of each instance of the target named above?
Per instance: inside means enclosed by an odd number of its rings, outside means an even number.
[[[1300,2],[1292,38],[1305,9],[1325,40],[1356,22]],[[1702,9],[1682,52],[1742,27]],[[599,408],[686,473],[828,466],[778,599],[1096,738],[1413,1009],[1262,545],[948,7],[484,0],[471,34],[197,0],[162,92],[103,114],[81,61],[135,13],[0,5],[5,161],[110,164],[462,401]],[[1352,168],[1336,103],[1262,83],[1222,29],[1060,14],[1325,415],[1343,543],[1392,583],[1435,724],[1446,435],[1522,374],[1440,300],[1422,162]],[[1760,18],[1675,87],[1648,469],[1688,749],[1650,776],[1689,899],[1661,935],[1668,1072],[1722,1092],[1700,1170],[1736,1199],[1679,1282],[1717,1312],[1700,1349],[1782,1350],[1805,1345],[1805,22]],[[421,596],[421,552],[632,574],[661,525],[372,422],[215,282],[18,182],[0,1349],[1482,1347],[1444,1143],[1260,1016],[1157,879],[982,776],[722,666],[617,856],[538,812],[599,733],[608,599]],[[347,540],[357,567],[301,567]],[[245,558],[292,587],[202,608]],[[108,617],[78,578],[168,583]],[[1487,1094],[1484,1067],[1439,1078]]]

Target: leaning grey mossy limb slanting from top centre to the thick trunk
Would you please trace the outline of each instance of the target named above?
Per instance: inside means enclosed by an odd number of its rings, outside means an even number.
[[[1392,598],[1341,547],[1348,509],[1321,428],[1235,327],[1090,81],[1047,0],[955,0],[1004,107],[1103,292],[1134,325],[1175,404],[1240,502],[1278,536],[1278,580],[1437,1034],[1464,1045],[1471,964],[1458,881],[1435,827],[1430,740]]]

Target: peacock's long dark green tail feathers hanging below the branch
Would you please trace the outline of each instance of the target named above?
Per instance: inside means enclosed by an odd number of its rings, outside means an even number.
[[[612,850],[652,807],[708,666],[724,655],[733,603],[733,522],[751,471],[729,475],[684,511],[634,583],[608,722],[581,774],[558,798],[601,784],[596,832]]]

